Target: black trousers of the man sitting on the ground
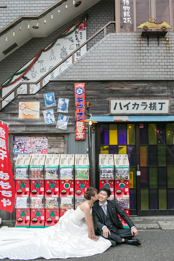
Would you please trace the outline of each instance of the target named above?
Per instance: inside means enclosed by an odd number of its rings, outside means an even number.
[[[110,230],[110,233],[111,233],[111,235],[108,234],[107,239],[111,239],[111,240],[113,240],[113,241],[115,241],[117,243],[121,243],[122,242],[122,238],[132,239],[133,236],[134,236],[134,235],[131,234],[131,229],[130,228],[127,229],[127,228],[119,228],[119,227],[117,227],[116,232],[113,232],[112,230]],[[103,236],[103,230],[101,231],[100,235]],[[104,236],[103,236],[103,238],[104,238]]]

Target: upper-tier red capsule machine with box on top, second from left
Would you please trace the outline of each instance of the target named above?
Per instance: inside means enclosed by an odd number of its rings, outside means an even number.
[[[43,197],[45,194],[44,163],[46,154],[32,154],[29,166],[30,197]]]

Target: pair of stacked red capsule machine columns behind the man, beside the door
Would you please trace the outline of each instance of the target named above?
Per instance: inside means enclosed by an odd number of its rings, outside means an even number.
[[[116,203],[129,216],[129,160],[127,154],[99,154],[100,188],[111,190],[110,200]],[[128,224],[118,215],[124,228]]]

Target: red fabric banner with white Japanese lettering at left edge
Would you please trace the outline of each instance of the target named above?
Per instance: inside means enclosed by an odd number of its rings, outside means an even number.
[[[8,126],[0,122],[0,209],[13,211],[15,183],[8,152]]]

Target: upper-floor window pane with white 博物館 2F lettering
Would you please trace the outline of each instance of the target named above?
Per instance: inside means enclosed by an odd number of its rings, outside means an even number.
[[[120,0],[120,31],[134,31],[134,4],[133,0]]]

